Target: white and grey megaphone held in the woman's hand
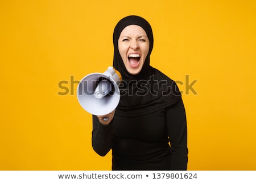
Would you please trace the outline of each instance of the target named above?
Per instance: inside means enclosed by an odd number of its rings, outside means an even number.
[[[113,67],[108,67],[104,73],[86,75],[77,87],[80,105],[93,115],[111,113],[120,100],[118,85],[121,80],[121,74]]]

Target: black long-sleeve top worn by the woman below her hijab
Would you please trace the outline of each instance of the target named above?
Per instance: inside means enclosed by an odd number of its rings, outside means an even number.
[[[105,156],[112,149],[113,170],[186,170],[187,121],[183,101],[140,117],[115,115],[101,125],[93,115],[92,146]]]

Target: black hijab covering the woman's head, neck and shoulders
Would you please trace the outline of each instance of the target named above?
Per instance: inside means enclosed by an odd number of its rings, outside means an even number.
[[[127,72],[118,51],[119,36],[122,30],[131,24],[142,27],[150,41],[148,55],[138,75],[131,75]],[[152,28],[147,20],[135,15],[121,19],[114,28],[113,43],[113,67],[122,75],[122,82],[119,85],[121,98],[115,114],[124,117],[149,114],[164,109],[179,100],[181,94],[175,82],[150,66],[154,38]]]

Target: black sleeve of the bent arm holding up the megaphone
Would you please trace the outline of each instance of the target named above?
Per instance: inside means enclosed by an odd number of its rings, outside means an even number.
[[[93,115],[92,147],[98,155],[105,156],[112,148],[112,127],[113,121],[104,126]]]

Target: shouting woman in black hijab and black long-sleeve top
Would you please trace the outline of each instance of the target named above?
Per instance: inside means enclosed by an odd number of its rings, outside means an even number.
[[[122,75],[121,99],[108,115],[93,115],[92,146],[112,149],[113,170],[186,170],[187,122],[174,81],[150,66],[150,24],[140,16],[114,29],[113,67]],[[104,118],[108,117],[108,121]]]

